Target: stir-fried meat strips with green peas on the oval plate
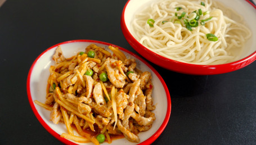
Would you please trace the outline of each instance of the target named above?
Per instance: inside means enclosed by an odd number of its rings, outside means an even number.
[[[152,76],[136,67],[118,47],[89,45],[65,58],[61,47],[53,55],[45,103],[54,124],[65,123],[61,137],[76,142],[111,143],[125,137],[140,142],[138,133],[154,122]],[[76,132],[75,132],[76,131]]]

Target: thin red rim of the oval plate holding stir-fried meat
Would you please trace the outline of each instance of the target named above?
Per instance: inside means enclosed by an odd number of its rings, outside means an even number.
[[[167,85],[165,84],[163,78],[161,78],[160,74],[154,69],[154,67],[152,67],[149,63],[147,63],[145,60],[143,60],[141,57],[135,55],[134,53],[128,51],[127,49],[124,49],[122,47],[116,46],[114,44],[110,44],[110,43],[106,43],[106,42],[100,42],[97,40],[70,40],[70,41],[66,41],[66,42],[62,42],[59,44],[56,44],[48,49],[46,49],[44,52],[41,53],[41,55],[39,55],[35,61],[33,62],[32,66],[30,67],[29,70],[29,74],[28,74],[28,78],[27,78],[27,82],[26,82],[26,90],[28,93],[28,99],[29,99],[29,103],[30,106],[32,107],[32,110],[35,114],[35,116],[37,117],[37,119],[39,120],[39,122],[43,125],[43,127],[49,132],[51,133],[55,138],[59,139],[59,141],[65,143],[65,144],[76,144],[74,142],[69,141],[68,139],[65,138],[61,138],[60,134],[56,133],[53,129],[50,128],[50,126],[48,126],[46,124],[46,122],[42,119],[42,117],[39,115],[37,109],[35,108],[32,96],[31,96],[31,92],[30,92],[30,78],[31,78],[31,74],[33,72],[33,68],[35,66],[35,64],[37,64],[37,61],[39,58],[42,57],[42,55],[44,55],[44,53],[46,53],[47,51],[49,51],[50,49],[59,46],[61,44],[66,44],[66,43],[74,43],[74,42],[91,42],[91,43],[98,43],[98,44],[105,44],[107,46],[114,46],[114,47],[118,47],[119,49],[121,49],[124,52],[129,53],[130,55],[136,57],[138,60],[142,61],[145,65],[147,65],[152,71],[154,71],[154,73],[156,74],[156,76],[158,76],[159,80],[161,81],[161,84],[163,84],[163,87],[165,89],[165,93],[167,95],[167,114],[165,115],[164,121],[161,124],[160,128],[148,139],[146,139],[146,141],[141,142],[140,144],[151,144],[152,142],[154,142],[156,140],[156,138],[159,137],[159,135],[163,132],[163,130],[165,129],[165,127],[168,124],[169,118],[170,118],[170,110],[171,110],[171,102],[170,102],[170,94],[169,94],[169,90],[167,88]]]

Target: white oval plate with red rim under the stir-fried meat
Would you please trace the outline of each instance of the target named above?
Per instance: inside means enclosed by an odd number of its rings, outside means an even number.
[[[30,68],[28,80],[27,80],[27,92],[28,98],[30,102],[30,106],[34,111],[35,116],[40,121],[40,123],[50,132],[54,137],[59,139],[61,142],[67,144],[92,144],[92,143],[77,143],[71,140],[67,140],[65,138],[61,138],[60,134],[67,133],[66,126],[63,123],[53,124],[50,121],[50,111],[44,109],[41,106],[38,106],[34,103],[35,100],[39,102],[46,101],[46,86],[47,79],[50,76],[49,68],[51,65],[54,65],[54,61],[52,60],[52,56],[55,53],[55,49],[57,46],[61,46],[62,52],[66,58],[76,55],[80,51],[84,51],[85,48],[89,44],[96,44],[97,46],[104,47],[109,50],[108,46],[115,46],[110,43],[98,42],[95,40],[72,40],[69,42],[63,42],[56,44],[48,48],[41,55],[37,57],[34,61],[32,67]],[[118,46],[115,46],[118,47]],[[137,62],[138,69],[142,71],[150,71],[152,74],[152,83],[154,85],[154,90],[152,94],[152,98],[154,99],[154,104],[156,109],[153,111],[156,116],[156,120],[154,121],[152,128],[147,132],[141,132],[138,134],[140,137],[140,143],[142,144],[150,144],[155,141],[156,138],[163,132],[165,126],[168,123],[170,117],[170,95],[169,90],[164,83],[164,80],[161,78],[159,73],[150,66],[145,60],[134,55],[134,53],[127,51],[124,48],[120,48],[127,56],[127,58],[135,58]],[[111,52],[111,51],[109,51]],[[116,139],[112,142],[112,144],[137,144],[129,142],[127,139]],[[108,144],[108,143],[102,143]]]

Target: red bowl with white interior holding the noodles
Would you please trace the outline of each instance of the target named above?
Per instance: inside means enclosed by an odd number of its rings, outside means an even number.
[[[124,34],[125,39],[127,39],[128,43],[138,52],[140,55],[145,57],[147,60],[152,63],[164,67],[165,69],[181,72],[183,74],[191,74],[191,75],[214,75],[214,74],[223,74],[226,72],[235,71],[245,67],[256,59],[256,42],[253,41],[256,35],[256,27],[255,27],[255,19],[251,19],[251,17],[256,17],[256,7],[249,1],[239,1],[237,2],[233,0],[224,1],[224,4],[232,3],[229,6],[236,10],[236,7],[242,7],[238,11],[242,11],[240,13],[244,17],[244,21],[247,21],[246,24],[249,25],[249,28],[252,31],[252,37],[249,40],[251,44],[249,44],[249,48],[246,49],[246,55],[240,60],[230,62],[228,64],[221,65],[195,65],[188,64],[184,62],[179,62],[175,60],[171,60],[169,58],[158,55],[155,52],[150,51],[148,48],[143,46],[138,40],[136,40],[131,33],[131,20],[134,15],[142,6],[145,6],[146,3],[149,3],[152,0],[129,0],[123,9],[122,17],[121,17],[121,28]],[[154,1],[154,0],[153,0]],[[219,0],[220,1],[220,0]],[[250,13],[250,15],[247,15]]]

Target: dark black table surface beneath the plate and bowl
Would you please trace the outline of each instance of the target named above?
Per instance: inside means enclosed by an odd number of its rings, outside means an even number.
[[[30,66],[48,47],[74,39],[100,40],[138,54],[120,28],[126,2],[7,0],[0,7],[0,144],[62,144],[30,108]],[[172,99],[169,123],[153,144],[256,144],[256,62],[206,76],[150,64]]]

